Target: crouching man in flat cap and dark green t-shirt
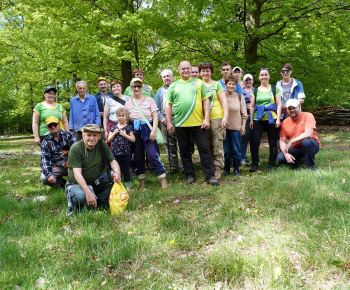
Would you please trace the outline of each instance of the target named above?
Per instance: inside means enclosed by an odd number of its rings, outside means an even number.
[[[100,141],[101,128],[88,124],[81,128],[83,139],[75,143],[68,157],[67,199],[68,212],[81,210],[85,205],[106,205],[110,186],[103,162],[104,150],[109,165],[114,171],[114,182],[120,182],[120,168],[106,142]],[[101,147],[102,146],[102,147]]]

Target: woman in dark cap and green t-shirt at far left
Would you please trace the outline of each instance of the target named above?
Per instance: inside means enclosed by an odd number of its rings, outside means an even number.
[[[63,124],[64,130],[69,131],[69,124],[65,108],[55,102],[57,90],[49,86],[44,89],[45,101],[37,104],[33,110],[33,134],[35,143],[40,146],[44,138],[50,133],[45,125],[46,118],[55,116]]]

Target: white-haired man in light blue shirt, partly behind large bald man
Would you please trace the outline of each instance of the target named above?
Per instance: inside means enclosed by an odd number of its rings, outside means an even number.
[[[160,73],[164,86],[161,87],[155,96],[155,101],[158,106],[158,119],[161,123],[162,135],[164,137],[164,144],[166,149],[166,154],[168,156],[170,165],[170,174],[175,174],[179,171],[179,160],[177,156],[177,140],[175,135],[170,135],[167,131],[167,123],[165,117],[165,108],[167,103],[167,92],[170,84],[174,80],[173,72],[170,69],[165,69]],[[174,121],[174,118],[171,118]]]

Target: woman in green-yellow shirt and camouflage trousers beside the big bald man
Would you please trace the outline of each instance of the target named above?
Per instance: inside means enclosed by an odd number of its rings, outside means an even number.
[[[199,66],[199,74],[206,87],[210,102],[210,128],[207,130],[208,146],[211,151],[215,168],[215,179],[220,179],[221,169],[224,167],[223,141],[226,136],[227,102],[225,90],[220,82],[211,79],[214,66],[210,62],[203,62]]]

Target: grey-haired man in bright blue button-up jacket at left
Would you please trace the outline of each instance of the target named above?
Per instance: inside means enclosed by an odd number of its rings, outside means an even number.
[[[76,88],[78,94],[70,100],[69,130],[75,134],[77,140],[81,140],[81,128],[86,124],[101,126],[101,116],[96,98],[86,93],[86,82],[78,81]]]

